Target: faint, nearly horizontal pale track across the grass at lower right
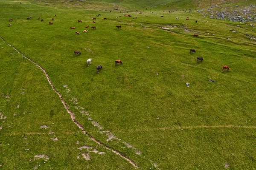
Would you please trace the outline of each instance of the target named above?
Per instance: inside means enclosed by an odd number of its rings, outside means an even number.
[[[184,130],[184,129],[200,129],[200,128],[244,128],[244,129],[256,129],[256,126],[238,126],[238,125],[212,125],[212,126],[173,126],[173,127],[159,127],[159,128],[148,128],[148,129],[136,129],[136,130],[112,130],[112,132],[141,132],[141,131],[155,131],[155,130]]]

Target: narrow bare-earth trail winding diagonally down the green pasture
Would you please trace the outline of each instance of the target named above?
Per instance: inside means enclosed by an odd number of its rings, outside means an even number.
[[[82,130],[82,132],[88,136],[92,141],[96,142],[97,144],[99,144],[100,146],[104,147],[105,149],[107,150],[111,150],[113,153],[115,153],[116,155],[118,156],[121,156],[123,159],[125,159],[126,161],[128,161],[130,164],[132,164],[134,167],[137,167],[139,168],[135,163],[134,161],[132,161],[131,159],[129,159],[127,156],[123,156],[121,153],[119,153],[117,150],[114,150],[113,148],[111,147],[108,147],[107,145],[103,144],[102,142],[98,141],[97,139],[95,139],[93,136],[91,136],[89,133],[87,133],[85,130],[84,130],[84,127],[79,123],[77,122],[76,120],[76,116],[75,114],[70,111],[67,103],[64,101],[61,93],[59,91],[56,90],[55,86],[52,84],[51,82],[51,79],[49,78],[49,75],[47,74],[47,71],[41,66],[39,65],[38,63],[34,62],[32,59],[29,59],[28,57],[26,57],[24,54],[22,54],[17,48],[15,48],[13,45],[9,44],[8,42],[6,42],[6,40],[4,40],[2,37],[0,37],[1,40],[3,40],[3,42],[5,42],[6,44],[8,44],[10,47],[12,47],[13,49],[15,49],[15,51],[17,51],[19,54],[22,55],[22,57],[28,59],[29,61],[31,61],[33,64],[35,64],[37,67],[39,67],[45,74],[49,84],[51,85],[52,89],[55,91],[56,94],[58,94],[59,98],[61,99],[61,102],[62,104],[64,105],[64,108],[67,110],[67,112],[70,114],[71,116],[71,119],[73,120],[73,122]]]

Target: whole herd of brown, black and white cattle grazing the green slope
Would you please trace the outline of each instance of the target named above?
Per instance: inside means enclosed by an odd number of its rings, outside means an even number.
[[[105,11],[107,11],[107,10],[105,10]],[[177,10],[176,10],[177,11]],[[191,10],[190,10],[191,11]],[[190,12],[189,11],[189,12]],[[121,11],[120,11],[121,12]],[[138,12],[138,11],[136,11],[136,12]],[[151,12],[151,11],[150,11]],[[165,12],[165,11],[164,11]],[[174,12],[174,11],[169,11],[169,13],[170,12]],[[151,12],[151,13],[154,13],[154,12]],[[142,14],[142,12],[140,12],[140,14]],[[158,14],[157,14],[158,15]],[[97,15],[97,17],[99,17],[99,16],[101,16],[101,14],[98,14]],[[130,14],[125,14],[124,15],[125,17],[131,17],[131,15]],[[56,17],[56,14],[55,14],[55,17]],[[92,16],[90,16],[91,18],[92,18]],[[122,17],[122,16],[119,16],[119,17]],[[148,17],[148,15],[145,15],[145,17]],[[160,15],[160,17],[163,17],[163,15]],[[116,18],[118,18],[118,17],[116,17]],[[30,19],[32,19],[32,17],[27,17],[27,20],[30,20]],[[40,20],[41,18],[40,17],[38,17],[38,20]],[[133,19],[137,19],[137,17],[135,17],[135,18],[133,18]],[[178,20],[178,19],[180,19],[180,18],[178,18],[178,17],[176,17],[176,20]],[[54,20],[54,18],[52,18],[52,21]],[[93,18],[93,23],[96,23],[94,20],[96,20],[96,18],[94,17]],[[107,18],[105,17],[103,20],[107,20]],[[13,21],[13,19],[11,18],[10,20],[9,20],[9,22],[12,22]],[[41,22],[42,21],[44,21],[44,19],[42,19],[41,20]],[[49,25],[53,25],[53,22],[52,21],[50,21],[49,22]],[[189,21],[189,17],[187,17],[186,18],[186,21]],[[81,20],[78,20],[78,23],[82,23],[82,21]],[[195,23],[197,23],[197,20],[195,21]],[[9,26],[12,26],[12,24],[11,23],[9,23]],[[86,26],[86,28],[88,28],[89,26]],[[122,28],[121,26],[116,26],[117,28]],[[96,29],[96,26],[92,26],[91,28],[93,28],[93,29]],[[76,27],[70,27],[70,29],[76,29]],[[84,30],[83,32],[87,32],[88,30]],[[78,31],[76,31],[76,34],[80,34]],[[198,34],[194,34],[193,35],[193,37],[198,37]],[[195,53],[196,51],[195,51],[195,49],[190,49],[190,54],[191,53]],[[81,54],[81,52],[80,51],[74,51],[74,54],[76,55],[76,54]],[[204,59],[203,59],[203,57],[197,57],[197,61],[203,61]],[[88,67],[89,67],[89,65],[91,64],[91,61],[92,61],[92,58],[90,58],[90,59],[87,59],[87,65],[88,65]],[[117,64],[123,64],[122,63],[122,61],[120,60],[120,59],[117,59],[117,60],[115,60],[115,65],[117,65]],[[99,71],[100,70],[102,70],[102,65],[98,65],[97,67],[96,67],[96,69],[97,69],[97,73],[99,73]],[[229,71],[229,67],[227,66],[227,65],[224,65],[223,66],[223,71],[224,70],[227,70],[227,71]]]

